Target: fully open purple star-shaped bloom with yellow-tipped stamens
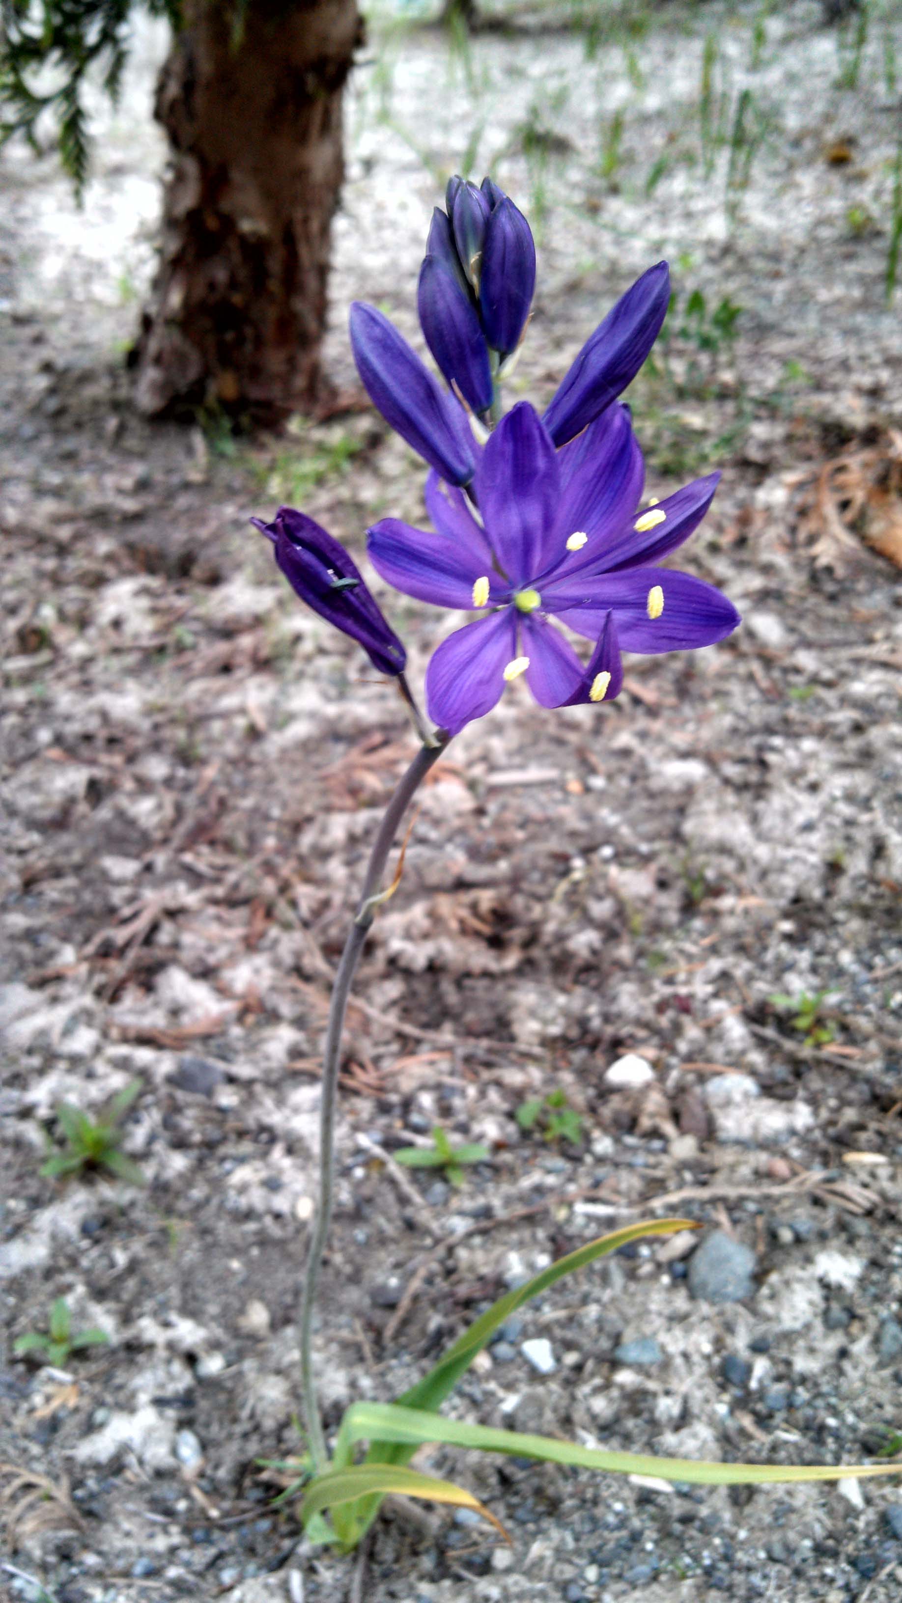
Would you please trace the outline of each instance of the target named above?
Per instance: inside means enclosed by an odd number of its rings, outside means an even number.
[[[644,463],[626,407],[610,406],[555,452],[525,401],[501,420],[477,468],[480,521],[461,491],[430,474],[437,532],[385,518],[368,540],[396,590],[481,614],[432,656],[430,718],[456,734],[522,673],[542,707],[611,701],[623,683],[621,648],[681,651],[732,633],[740,617],[719,590],[656,566],[698,526],[717,478],[637,511]],[[595,643],[587,664],[552,617]]]

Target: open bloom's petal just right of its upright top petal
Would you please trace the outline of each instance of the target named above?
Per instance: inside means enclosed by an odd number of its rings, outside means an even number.
[[[645,466],[628,409],[610,406],[579,439],[559,450],[557,460],[562,499],[549,571],[571,579],[586,569],[607,567],[607,547],[632,518],[642,494]],[[567,542],[576,534],[586,540],[568,550]]]

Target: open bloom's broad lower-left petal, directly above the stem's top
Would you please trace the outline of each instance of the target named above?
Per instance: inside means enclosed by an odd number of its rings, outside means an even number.
[[[440,729],[457,734],[481,718],[504,689],[504,668],[517,654],[517,619],[512,608],[465,624],[433,651],[425,670],[425,705]]]

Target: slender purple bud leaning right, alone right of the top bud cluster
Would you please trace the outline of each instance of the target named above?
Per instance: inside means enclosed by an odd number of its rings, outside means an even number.
[[[658,261],[586,340],[542,418],[555,446],[579,434],[636,378],[661,332],[669,295],[668,263]]]

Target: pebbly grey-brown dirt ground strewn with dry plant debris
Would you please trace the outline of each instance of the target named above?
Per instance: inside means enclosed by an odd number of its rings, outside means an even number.
[[[533,18],[451,56],[376,22],[335,228],[339,410],[255,444],[130,409],[164,35],[140,32],[124,103],[101,112],[83,212],[50,159],[6,152],[3,1597],[899,1597],[892,1480],[672,1489],[435,1451],[424,1465],[485,1499],[512,1548],[395,1507],[360,1566],[300,1542],[260,1467],[300,1446],[329,979],[414,747],[392,686],[302,611],[247,516],[303,503],[356,551],[376,516],[422,518],[422,471],[364,409],[343,316],[361,295],[412,337],[430,165],[457,167],[473,128],[477,172],[539,237],[515,394],[544,401],[613,297],[674,264],[666,361],[631,396],[648,492],[724,468],[682,566],[745,624],[629,660],[610,707],[554,715],[512,686],[425,789],[347,1037],[327,1422],[396,1396],[549,1258],[679,1212],[725,1234],[737,1273],[737,1247],[754,1255],[735,1300],[700,1295],[693,1238],[681,1257],[640,1246],[525,1310],[451,1411],[709,1459],[899,1451],[902,609],[875,543],[897,551],[902,523],[883,290],[902,35],[889,6],[870,18],[857,82],[854,40],[814,3],[666,6],[647,27],[634,6],[600,38]],[[385,604],[417,684],[457,620]],[[801,1020],[772,1000],[802,992],[820,1007]],[[611,1084],[626,1055],[645,1068]],[[146,1185],[42,1177],[59,1103],[96,1116],[133,1079],[122,1146]],[[578,1140],[520,1129],[554,1092]],[[433,1124],[490,1148],[459,1188],[385,1159]],[[108,1343],[14,1356],[55,1297]]]

